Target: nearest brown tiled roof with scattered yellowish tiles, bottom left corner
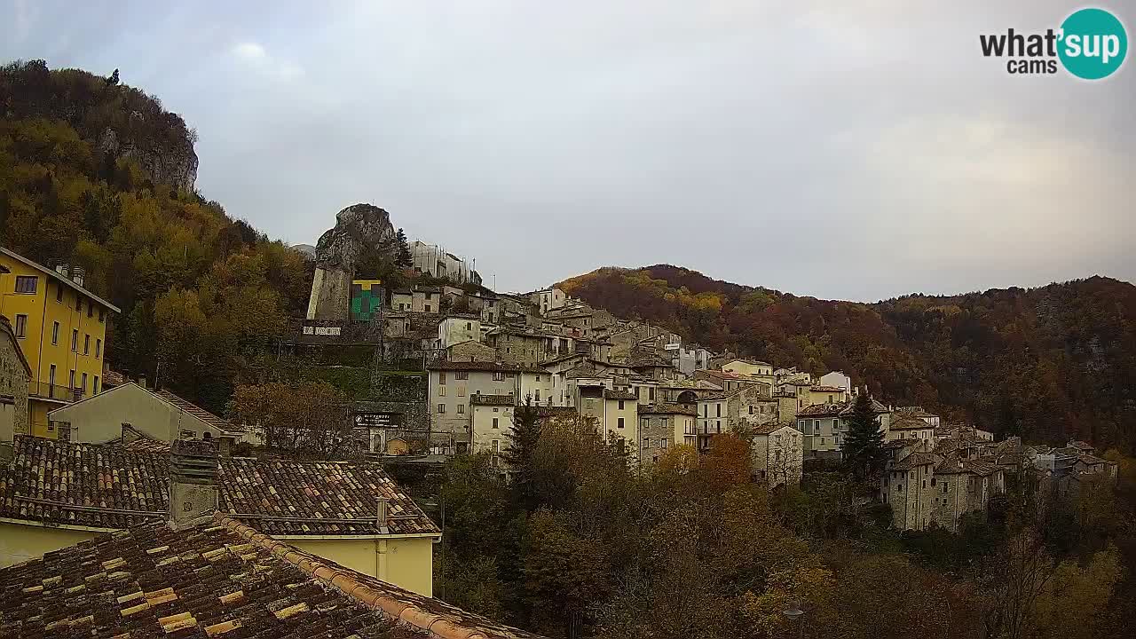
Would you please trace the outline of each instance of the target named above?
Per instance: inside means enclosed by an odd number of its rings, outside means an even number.
[[[214,515],[100,536],[0,570],[0,636],[528,639]]]

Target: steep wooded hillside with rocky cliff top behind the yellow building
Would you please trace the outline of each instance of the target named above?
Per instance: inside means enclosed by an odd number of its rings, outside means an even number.
[[[123,309],[107,357],[223,410],[307,305],[300,254],[193,188],[194,134],[139,89],[43,60],[0,67],[0,243],[86,269]]]

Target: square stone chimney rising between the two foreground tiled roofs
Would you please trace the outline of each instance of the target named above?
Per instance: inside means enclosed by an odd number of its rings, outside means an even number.
[[[217,509],[217,450],[212,442],[179,439],[169,454],[169,526],[184,530]]]

